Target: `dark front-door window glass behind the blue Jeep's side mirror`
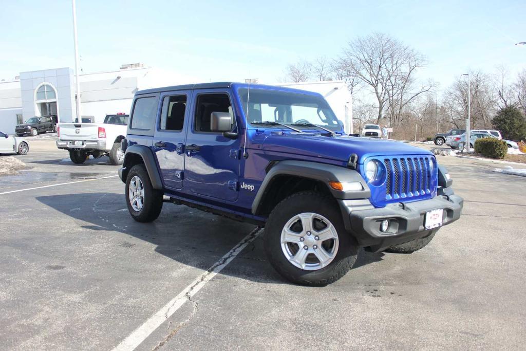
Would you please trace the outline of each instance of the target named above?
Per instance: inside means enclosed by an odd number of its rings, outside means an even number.
[[[197,97],[194,126],[196,132],[210,133],[210,115],[213,112],[229,112],[233,116],[227,94],[201,94]]]

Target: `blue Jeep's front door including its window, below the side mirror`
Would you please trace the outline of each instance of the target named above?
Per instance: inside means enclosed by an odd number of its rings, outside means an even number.
[[[229,202],[237,200],[239,180],[239,138],[212,132],[210,115],[229,112],[232,98],[224,89],[196,91],[191,126],[185,142],[185,191]],[[232,130],[237,131],[235,118]]]

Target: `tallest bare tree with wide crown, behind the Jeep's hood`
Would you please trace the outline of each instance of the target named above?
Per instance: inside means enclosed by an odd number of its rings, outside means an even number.
[[[378,103],[377,122],[389,111],[391,125],[400,122],[402,109],[432,84],[415,88],[414,73],[426,58],[387,34],[375,33],[348,43],[339,66],[368,86]]]

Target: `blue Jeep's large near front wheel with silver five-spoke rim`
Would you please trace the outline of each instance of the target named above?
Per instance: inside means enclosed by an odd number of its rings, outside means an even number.
[[[267,258],[277,272],[308,286],[336,282],[349,272],[358,255],[337,204],[315,192],[282,200],[269,215],[264,242]]]

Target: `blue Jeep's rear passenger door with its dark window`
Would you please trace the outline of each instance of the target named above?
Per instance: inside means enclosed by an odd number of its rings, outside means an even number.
[[[160,96],[160,118],[154,132],[153,150],[163,182],[171,189],[183,187],[184,131],[189,120],[186,118],[189,96],[190,91],[164,93]]]

